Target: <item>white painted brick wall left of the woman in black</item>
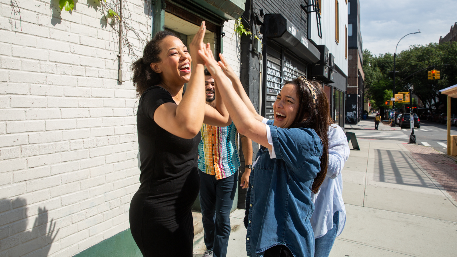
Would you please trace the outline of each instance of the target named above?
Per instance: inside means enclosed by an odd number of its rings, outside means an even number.
[[[138,99],[117,82],[117,36],[85,1],[60,16],[51,3],[19,1],[15,32],[0,0],[2,257],[70,257],[128,229],[139,186]],[[149,32],[144,3],[124,0]]]

